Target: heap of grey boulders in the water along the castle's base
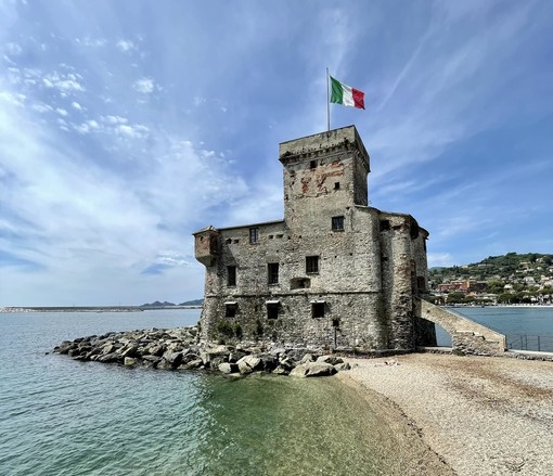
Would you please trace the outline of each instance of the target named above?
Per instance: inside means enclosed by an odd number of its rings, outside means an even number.
[[[203,369],[231,376],[270,372],[310,377],[349,370],[339,357],[318,349],[200,344],[196,326],[110,332],[64,340],[53,351],[75,360],[162,370]]]

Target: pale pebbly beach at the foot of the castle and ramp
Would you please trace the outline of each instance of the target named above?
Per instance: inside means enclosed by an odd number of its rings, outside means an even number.
[[[433,462],[425,474],[553,474],[552,362],[433,353],[349,362],[338,378],[368,401],[384,397],[384,417],[395,408],[450,469]]]

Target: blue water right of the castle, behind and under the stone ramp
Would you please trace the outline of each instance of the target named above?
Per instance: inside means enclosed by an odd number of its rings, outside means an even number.
[[[528,350],[538,350],[537,336],[540,336],[540,350],[553,352],[553,307],[455,307],[452,310],[505,334],[513,348],[526,346]],[[449,335],[439,327],[436,330],[438,345],[450,346]]]

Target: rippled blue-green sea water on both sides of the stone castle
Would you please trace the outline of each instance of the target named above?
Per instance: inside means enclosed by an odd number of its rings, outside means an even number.
[[[553,336],[553,308],[462,311],[499,331]],[[397,467],[397,435],[335,378],[230,379],[52,353],[64,339],[198,318],[197,309],[0,313],[0,474],[339,476]]]

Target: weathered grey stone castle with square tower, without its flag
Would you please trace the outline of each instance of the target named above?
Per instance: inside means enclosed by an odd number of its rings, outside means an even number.
[[[202,338],[413,349],[427,291],[413,217],[369,206],[370,157],[353,126],[280,144],[284,220],[194,233],[206,267]]]

